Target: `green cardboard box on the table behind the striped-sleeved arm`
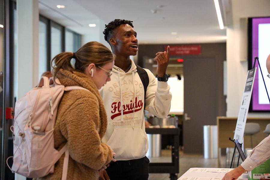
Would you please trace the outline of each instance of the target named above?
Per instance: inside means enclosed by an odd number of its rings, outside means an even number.
[[[252,150],[247,151],[247,155]],[[270,179],[270,159],[248,172],[248,180]]]

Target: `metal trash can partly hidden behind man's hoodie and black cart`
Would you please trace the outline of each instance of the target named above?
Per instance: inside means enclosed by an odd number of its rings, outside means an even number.
[[[161,134],[147,134],[149,148],[146,153],[147,157],[161,156]]]

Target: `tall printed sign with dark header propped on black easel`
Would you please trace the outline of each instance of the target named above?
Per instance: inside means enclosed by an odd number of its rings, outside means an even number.
[[[253,89],[253,82],[255,79],[255,74],[256,74],[256,69],[257,67],[247,71],[247,80],[246,80],[246,85],[244,88],[244,93],[240,105],[240,110],[238,113],[238,118],[237,118],[237,123],[235,127],[235,133],[233,139],[238,140],[239,143],[243,143],[243,137],[244,137],[244,130],[245,130],[245,125],[247,121],[247,113],[248,113],[248,108],[250,104],[250,98],[252,94],[252,89]]]

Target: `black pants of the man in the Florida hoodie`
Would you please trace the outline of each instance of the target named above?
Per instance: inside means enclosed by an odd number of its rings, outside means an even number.
[[[147,157],[129,161],[111,162],[106,169],[110,180],[147,180],[149,176]]]

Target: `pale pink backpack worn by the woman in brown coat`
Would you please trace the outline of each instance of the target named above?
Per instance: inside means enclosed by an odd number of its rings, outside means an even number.
[[[67,178],[67,144],[58,152],[53,131],[62,95],[74,89],[89,91],[80,86],[64,87],[58,79],[43,76],[37,87],[16,102],[14,126],[10,128],[14,134],[13,172],[29,178],[46,176],[53,173],[54,164],[65,152],[62,180]]]

